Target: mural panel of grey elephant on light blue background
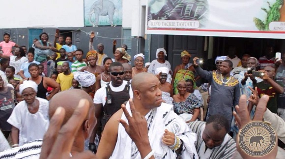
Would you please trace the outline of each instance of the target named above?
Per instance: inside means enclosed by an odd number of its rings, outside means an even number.
[[[122,0],[84,0],[84,25],[121,26]]]

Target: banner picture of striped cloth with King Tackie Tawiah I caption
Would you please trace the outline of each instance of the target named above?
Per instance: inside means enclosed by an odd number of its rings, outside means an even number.
[[[207,0],[148,0],[148,28],[197,29],[205,25]]]

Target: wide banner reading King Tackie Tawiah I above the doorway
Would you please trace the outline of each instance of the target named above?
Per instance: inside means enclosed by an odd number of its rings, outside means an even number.
[[[285,38],[284,0],[148,0],[146,34]]]

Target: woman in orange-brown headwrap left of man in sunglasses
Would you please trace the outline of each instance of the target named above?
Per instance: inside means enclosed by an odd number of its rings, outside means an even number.
[[[86,61],[88,62],[87,66],[84,66],[80,71],[88,71],[90,73],[93,73],[95,77],[97,78],[98,75],[102,72],[104,72],[104,68],[97,65],[97,52],[96,51],[89,51],[86,54]]]

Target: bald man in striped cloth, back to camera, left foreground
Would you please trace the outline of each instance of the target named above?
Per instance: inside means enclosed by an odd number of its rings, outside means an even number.
[[[85,91],[79,89],[72,89],[54,95],[53,98],[50,100],[49,106],[49,118],[51,118],[55,114],[55,111],[59,106],[65,109],[65,116],[62,123],[62,125],[64,125],[72,116],[74,110],[79,104],[80,99],[87,99],[89,104],[92,106],[89,107],[89,111],[85,116],[85,120],[75,136],[75,140],[73,142],[72,149],[70,152],[72,156],[84,151],[85,139],[90,137],[91,132],[97,122],[95,118],[95,107],[93,106],[93,101],[91,97],[87,93],[85,93]],[[51,125],[53,125],[53,123],[51,123]],[[41,152],[41,145],[42,139],[28,142],[27,144],[16,149],[10,149],[9,151],[0,153],[0,159],[2,159],[2,157],[4,156],[7,158],[16,158],[16,155],[19,154],[21,154],[19,157],[21,159],[26,158],[28,156],[39,158]]]

